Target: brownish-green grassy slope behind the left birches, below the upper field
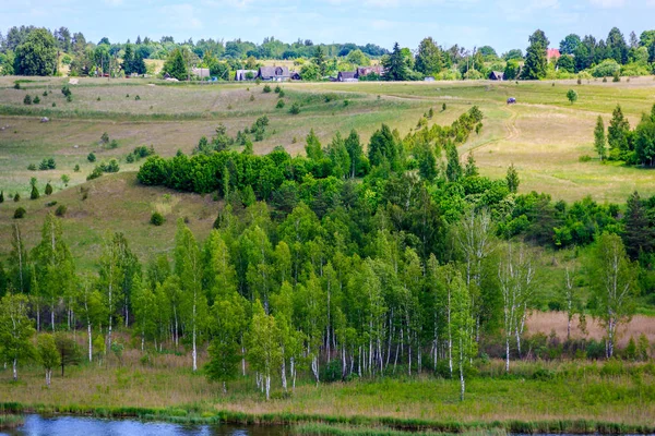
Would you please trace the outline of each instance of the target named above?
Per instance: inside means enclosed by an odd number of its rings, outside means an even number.
[[[103,239],[115,231],[124,232],[130,247],[143,261],[172,249],[177,218],[189,218],[196,238],[204,240],[218,214],[219,203],[211,196],[176,193],[166,189],[145,187],[136,183],[135,173],[104,175],[84,185],[88,198],[83,201],[78,187],[59,191],[49,197],[5,202],[0,205],[0,246],[8,253],[11,226],[19,222],[25,244],[32,249],[40,241],[40,228],[48,211],[66,205],[63,237],[76,258],[79,270],[90,270],[97,262]],[[57,202],[48,207],[47,203]],[[22,220],[13,220],[15,205],[27,209]],[[167,218],[162,227],[150,225],[154,210]]]

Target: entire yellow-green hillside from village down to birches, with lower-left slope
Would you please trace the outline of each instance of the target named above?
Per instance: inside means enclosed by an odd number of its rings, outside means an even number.
[[[519,168],[521,192],[546,192],[567,201],[592,195],[600,203],[622,203],[634,190],[642,196],[655,195],[655,171],[600,165],[597,159],[579,160],[580,156],[594,155],[593,128],[598,114],[607,123],[611,110],[621,104],[634,125],[642,112],[650,111],[655,102],[652,77],[582,85],[574,81],[285,83],[284,109],[275,109],[278,96],[274,92],[263,93],[264,85],[254,83],[171,85],[157,80],[80,78],[78,85],[71,85],[73,100],[67,102],[60,89],[68,78],[29,78],[21,83],[24,89],[14,89],[19,78],[0,77],[0,190],[5,196],[0,205],[0,246],[5,247],[4,254],[10,246],[10,227],[15,222],[14,209],[26,208],[27,216],[20,222],[27,246],[34,246],[45,214],[56,208],[47,206],[50,202],[69,208],[64,235],[75,257],[86,266],[93,265],[103,237],[110,231],[124,231],[144,259],[170,249],[179,217],[189,218],[202,239],[219,203],[210,195],[139,186],[134,174],[140,162],[127,164],[124,156],[139,145],[153,145],[163,156],[172,156],[178,149],[191,153],[200,137],[210,137],[218,123],[236,135],[264,114],[271,122],[264,140],[254,143],[255,153],[282,145],[296,155],[305,153],[303,140],[310,129],[323,143],[337,131],[347,134],[352,129],[366,142],[381,123],[404,135],[429,108],[434,109],[430,123],[450,124],[478,105],[485,113],[484,129],[461,147],[461,155],[464,158],[473,150],[483,174],[503,177],[513,162]],[[574,105],[565,97],[571,87],[580,95]],[[52,93],[43,96],[48,90]],[[25,94],[38,95],[41,102],[24,105]],[[505,105],[510,96],[519,102]],[[297,116],[288,112],[293,102],[301,105]],[[50,121],[41,123],[43,116]],[[118,141],[117,148],[100,146],[104,132]],[[120,159],[121,173],[86,183],[96,165],[86,159],[91,152],[98,162]],[[57,169],[27,169],[50,157],[56,159]],[[79,172],[73,171],[75,165],[80,165]],[[62,174],[71,178],[68,189],[61,182]],[[38,180],[41,192],[37,201],[28,199],[32,177]],[[48,181],[55,194],[45,197]],[[82,183],[90,189],[85,201],[79,191]],[[22,197],[19,203],[10,199],[15,192]],[[157,209],[168,219],[160,228],[147,223]]]

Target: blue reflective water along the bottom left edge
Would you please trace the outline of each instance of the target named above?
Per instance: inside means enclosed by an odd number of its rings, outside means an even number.
[[[4,436],[287,436],[287,427],[255,425],[181,425],[138,420],[25,415],[25,424]]]

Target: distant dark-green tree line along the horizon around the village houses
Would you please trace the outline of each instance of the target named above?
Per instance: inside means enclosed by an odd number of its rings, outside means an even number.
[[[532,34],[528,43],[525,55],[521,48],[498,53],[488,45],[473,50],[456,44],[442,47],[431,37],[424,38],[416,49],[396,44],[392,50],[374,44],[314,45],[300,39],[287,44],[274,37],[261,44],[211,38],[176,43],[170,36],[158,41],[138,36],[134,43],[102,38],[94,44],[67,27],[50,32],[14,26],[5,36],[0,34],[0,74],[52,75],[59,73],[60,65],[76,76],[144,74],[148,72],[146,59],[166,60],[162,73],[179,80],[190,78],[191,66],[207,68],[219,80],[234,80],[236,70],[255,69],[265,60],[293,61],[306,81],[334,77],[340,71],[370,65],[371,60],[382,63],[384,74],[366,80],[476,80],[487,78],[492,71],[503,72],[505,80],[590,78],[648,75],[654,71],[655,31],[644,31],[639,37],[632,32],[626,37],[614,27],[605,39],[570,34],[559,43],[561,57],[552,58],[547,49],[557,44],[551,45],[543,31]]]

